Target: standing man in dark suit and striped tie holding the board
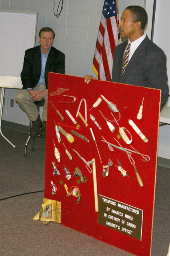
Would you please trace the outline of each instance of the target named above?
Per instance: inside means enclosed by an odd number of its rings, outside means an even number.
[[[111,82],[161,89],[162,110],[169,94],[166,56],[144,32],[147,22],[146,10],[140,6],[128,6],[123,11],[119,31],[128,40],[115,49]],[[85,76],[85,82],[91,79]]]

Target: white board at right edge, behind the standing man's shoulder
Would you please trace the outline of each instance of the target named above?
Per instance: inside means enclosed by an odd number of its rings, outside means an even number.
[[[153,42],[157,46],[159,46],[166,54],[168,84],[170,88],[169,10],[170,10],[170,1],[156,0]]]

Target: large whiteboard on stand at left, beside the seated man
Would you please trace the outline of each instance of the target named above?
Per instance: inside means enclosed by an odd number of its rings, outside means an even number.
[[[37,12],[0,10],[0,76],[20,78],[25,51],[35,46],[37,19]],[[0,87],[13,88],[5,80],[6,86],[0,83]]]

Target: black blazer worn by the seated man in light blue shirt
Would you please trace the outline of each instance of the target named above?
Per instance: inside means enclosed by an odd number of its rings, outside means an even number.
[[[34,88],[39,80],[42,70],[41,46],[26,50],[24,65],[21,72],[22,89]],[[48,72],[65,74],[65,54],[53,46],[48,54],[45,66],[45,85],[47,88]]]

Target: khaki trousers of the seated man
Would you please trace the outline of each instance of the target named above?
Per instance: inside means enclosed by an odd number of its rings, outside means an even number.
[[[46,86],[45,84],[40,84],[34,87],[34,91],[43,91],[45,90]],[[44,97],[45,104],[43,106],[43,112],[42,112],[42,120],[47,121],[47,94]],[[20,92],[16,94],[15,98],[16,103],[19,105],[19,107],[24,111],[28,118],[31,121],[36,121],[39,115],[38,108],[36,104],[34,104],[34,100],[32,100],[30,93],[27,89],[22,89]]]

